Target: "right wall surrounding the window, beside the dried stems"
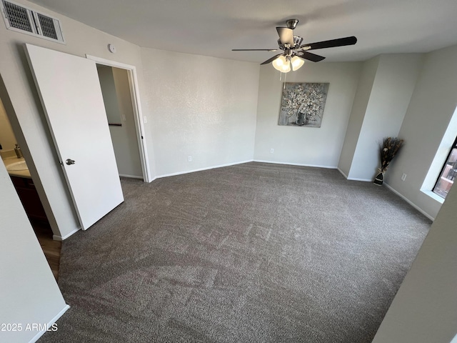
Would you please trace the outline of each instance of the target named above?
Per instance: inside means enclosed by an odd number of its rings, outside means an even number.
[[[457,46],[426,54],[398,132],[405,146],[386,173],[386,183],[430,217],[436,217],[441,203],[421,192],[421,187],[456,109],[456,89]],[[405,181],[401,181],[403,173]]]

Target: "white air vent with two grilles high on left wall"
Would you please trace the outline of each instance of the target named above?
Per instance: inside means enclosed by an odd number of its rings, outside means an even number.
[[[0,4],[6,29],[65,44],[59,19],[11,1],[1,0]]]

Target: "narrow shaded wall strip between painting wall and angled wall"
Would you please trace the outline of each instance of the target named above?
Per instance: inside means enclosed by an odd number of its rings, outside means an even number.
[[[356,96],[353,101],[351,116],[349,117],[346,136],[344,138],[338,169],[348,177],[351,171],[353,156],[356,151],[358,137],[362,129],[363,117],[370,100],[371,89],[378,70],[379,56],[363,63],[360,79],[358,79]]]

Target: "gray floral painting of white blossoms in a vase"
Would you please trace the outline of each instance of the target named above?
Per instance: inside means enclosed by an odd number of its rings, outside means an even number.
[[[279,125],[321,127],[328,83],[286,82],[283,88]]]

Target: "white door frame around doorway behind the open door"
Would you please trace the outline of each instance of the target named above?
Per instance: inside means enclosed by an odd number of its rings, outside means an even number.
[[[135,129],[136,129],[136,140],[138,143],[140,160],[141,160],[141,170],[143,171],[143,180],[144,182],[153,181],[151,177],[151,168],[149,167],[149,158],[148,158],[148,149],[146,147],[146,139],[144,139],[144,117],[141,111],[140,106],[140,92],[138,85],[138,77],[136,76],[136,67],[131,66],[130,64],[124,64],[117,61],[111,61],[109,59],[102,59],[101,57],[92,56],[86,54],[86,59],[91,59],[97,64],[103,64],[105,66],[114,66],[119,69],[124,69],[127,71],[129,76],[129,88],[132,102],[132,109],[134,110],[134,120],[135,120]]]

